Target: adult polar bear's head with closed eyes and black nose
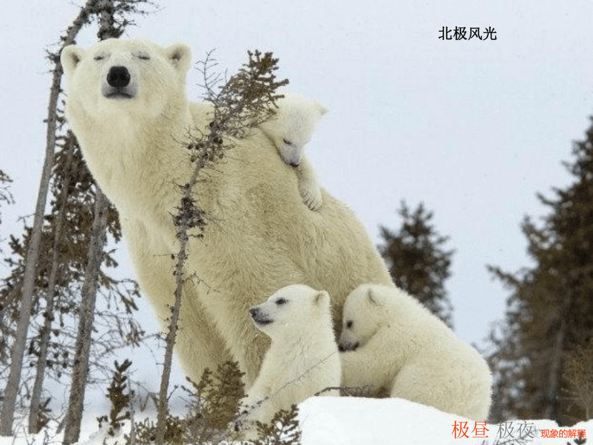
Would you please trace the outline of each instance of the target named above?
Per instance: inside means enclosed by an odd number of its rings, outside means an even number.
[[[143,119],[170,117],[185,103],[185,75],[190,49],[162,48],[150,41],[106,39],[88,49],[70,45],[61,52],[68,79],[66,115],[110,123],[128,115]]]

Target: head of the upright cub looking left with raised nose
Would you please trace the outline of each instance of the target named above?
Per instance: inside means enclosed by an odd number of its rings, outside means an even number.
[[[272,339],[309,333],[317,323],[331,324],[330,295],[304,284],[281,288],[249,313],[259,330]]]

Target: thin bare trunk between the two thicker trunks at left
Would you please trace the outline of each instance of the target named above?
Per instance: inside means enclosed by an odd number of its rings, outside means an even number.
[[[48,278],[48,290],[46,291],[46,310],[45,321],[43,328],[41,328],[41,339],[39,341],[39,358],[37,359],[37,366],[35,370],[35,382],[31,393],[31,405],[29,408],[29,433],[39,433],[39,406],[41,403],[41,390],[43,389],[43,378],[46,376],[46,364],[48,358],[48,345],[50,343],[50,333],[52,329],[52,321],[54,319],[54,289],[56,286],[56,278],[59,270],[60,260],[60,241],[63,233],[64,219],[66,218],[66,199],[68,198],[68,187],[70,186],[70,178],[72,172],[72,157],[74,148],[69,144],[65,147],[68,150],[68,158],[66,159],[66,179],[62,184],[62,190],[59,198],[61,207],[58,210],[58,218],[56,221],[54,232],[54,244],[52,248],[52,269],[50,277]]]

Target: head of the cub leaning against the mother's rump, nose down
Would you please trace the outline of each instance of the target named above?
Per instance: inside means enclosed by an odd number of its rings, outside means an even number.
[[[388,324],[383,293],[371,284],[361,284],[346,297],[339,349],[364,346],[381,326]]]

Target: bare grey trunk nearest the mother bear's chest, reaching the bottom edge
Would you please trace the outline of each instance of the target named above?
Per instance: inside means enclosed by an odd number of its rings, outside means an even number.
[[[99,270],[101,268],[101,261],[103,260],[103,246],[105,244],[107,208],[107,198],[105,198],[103,192],[97,187],[92,235],[88,250],[88,263],[82,288],[79,329],[74,352],[72,386],[70,387],[68,413],[66,413],[66,424],[64,426],[63,445],[77,442],[80,435],[84,394],[88,377],[88,359],[94,319],[94,305],[95,301],[97,301]]]

